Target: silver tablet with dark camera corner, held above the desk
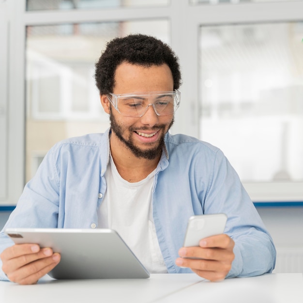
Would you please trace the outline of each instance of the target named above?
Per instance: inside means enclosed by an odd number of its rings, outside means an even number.
[[[112,229],[7,228],[16,243],[37,243],[61,254],[55,279],[149,278],[150,273]]]

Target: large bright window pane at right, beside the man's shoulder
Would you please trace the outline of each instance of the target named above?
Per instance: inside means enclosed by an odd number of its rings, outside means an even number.
[[[303,181],[303,22],[201,27],[200,137],[244,182]]]

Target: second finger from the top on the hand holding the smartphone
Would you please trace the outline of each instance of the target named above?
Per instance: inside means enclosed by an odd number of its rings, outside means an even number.
[[[182,247],[179,250],[179,256],[182,258],[200,258],[208,260],[233,260],[232,250],[222,248],[201,248],[198,246]]]

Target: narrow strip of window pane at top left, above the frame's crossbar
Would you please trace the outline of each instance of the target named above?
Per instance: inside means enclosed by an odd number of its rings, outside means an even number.
[[[27,0],[27,11],[167,6],[170,0]]]

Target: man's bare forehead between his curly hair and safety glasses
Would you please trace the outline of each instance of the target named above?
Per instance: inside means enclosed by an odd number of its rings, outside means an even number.
[[[172,91],[173,84],[167,64],[141,66],[123,62],[116,69],[113,92]]]

